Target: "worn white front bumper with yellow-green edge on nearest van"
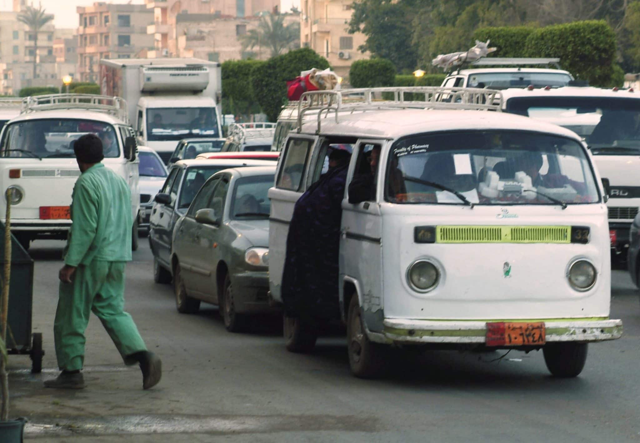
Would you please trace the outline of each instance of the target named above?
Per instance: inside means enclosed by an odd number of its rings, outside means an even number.
[[[407,344],[477,344],[486,343],[487,323],[483,321],[384,320],[384,341]],[[504,321],[504,320],[503,320]],[[509,320],[506,320],[509,321]],[[622,336],[622,320],[608,318],[561,318],[554,320],[511,320],[513,322],[544,322],[546,343],[561,341],[614,340]],[[378,341],[375,340],[374,341]]]

